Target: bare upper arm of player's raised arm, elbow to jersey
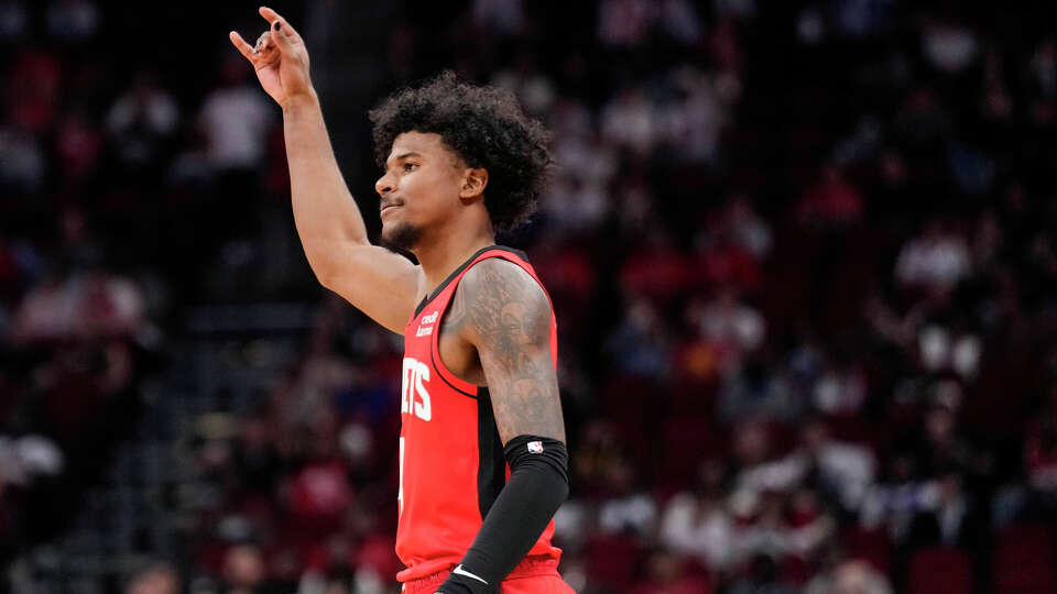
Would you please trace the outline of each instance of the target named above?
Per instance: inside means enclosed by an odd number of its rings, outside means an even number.
[[[333,264],[319,282],[372,320],[402,334],[423,287],[422,267],[371,244],[346,242],[328,252]]]

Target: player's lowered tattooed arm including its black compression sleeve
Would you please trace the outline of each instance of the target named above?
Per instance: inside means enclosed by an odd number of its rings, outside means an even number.
[[[480,358],[511,474],[438,592],[499,592],[569,492],[551,302],[523,268],[489,258],[459,282],[449,315]]]

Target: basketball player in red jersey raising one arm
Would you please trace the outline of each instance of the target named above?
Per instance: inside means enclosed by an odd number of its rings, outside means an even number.
[[[370,112],[384,175],[371,245],[330,147],[302,37],[268,8],[255,46],[283,108],[294,221],[319,282],[404,334],[397,574],[404,592],[569,593],[551,544],[568,495],[549,297],[497,230],[532,212],[548,134],[509,94],[450,73]]]

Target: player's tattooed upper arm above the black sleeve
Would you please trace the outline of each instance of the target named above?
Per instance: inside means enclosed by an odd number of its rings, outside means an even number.
[[[459,283],[465,328],[477,348],[503,444],[522,436],[565,441],[551,355],[551,301],[520,266],[487,260]]]

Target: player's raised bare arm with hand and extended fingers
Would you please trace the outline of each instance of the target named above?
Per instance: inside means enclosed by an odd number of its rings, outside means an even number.
[[[269,31],[255,46],[235,31],[229,37],[283,108],[294,224],[308,264],[323,286],[402,333],[425,287],[422,270],[368,240],[330,146],[304,40],[275,11],[260,12]]]

